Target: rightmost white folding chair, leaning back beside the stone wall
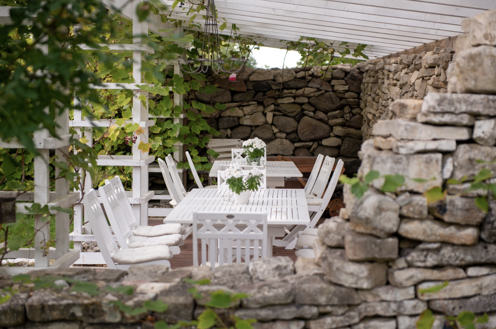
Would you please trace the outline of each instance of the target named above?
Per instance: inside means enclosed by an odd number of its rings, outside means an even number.
[[[317,221],[320,219],[322,214],[325,211],[325,208],[327,208],[327,205],[329,204],[329,201],[331,201],[332,194],[334,193],[334,190],[336,189],[336,185],[339,180],[339,176],[341,175],[341,169],[343,168],[343,160],[339,159],[338,163],[336,164],[336,168],[334,169],[334,172],[331,177],[331,181],[329,182],[329,185],[327,185],[327,189],[325,190],[324,196],[320,198],[314,198],[314,199],[307,199],[307,202],[309,204],[309,211],[312,212],[310,216],[310,224],[308,225],[296,225],[291,232],[289,232],[284,238],[283,241],[289,241],[288,245],[286,246],[286,249],[293,249],[295,248],[296,242],[297,242],[297,237],[299,232],[314,228],[315,225],[317,224]]]

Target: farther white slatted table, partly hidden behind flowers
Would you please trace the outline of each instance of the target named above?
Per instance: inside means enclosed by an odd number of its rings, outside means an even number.
[[[232,164],[232,161],[214,161],[210,169],[209,176],[217,177],[222,166]],[[303,177],[296,164],[290,161],[262,161],[267,173],[267,187],[284,187],[285,177]]]

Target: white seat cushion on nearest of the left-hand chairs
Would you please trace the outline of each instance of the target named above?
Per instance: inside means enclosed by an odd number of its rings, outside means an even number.
[[[172,258],[169,246],[150,246],[142,248],[121,249],[112,255],[118,264],[138,264]]]

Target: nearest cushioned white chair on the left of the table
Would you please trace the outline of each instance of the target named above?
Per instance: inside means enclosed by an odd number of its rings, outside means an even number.
[[[119,249],[94,189],[86,192],[83,205],[85,219],[90,223],[109,269],[127,270],[133,264],[161,264],[170,267],[169,259],[180,252],[179,247],[166,245]]]

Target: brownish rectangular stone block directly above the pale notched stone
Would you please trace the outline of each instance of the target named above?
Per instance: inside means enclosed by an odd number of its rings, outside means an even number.
[[[349,231],[344,239],[346,258],[350,261],[389,261],[398,257],[397,237],[379,239]]]

